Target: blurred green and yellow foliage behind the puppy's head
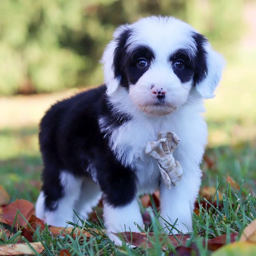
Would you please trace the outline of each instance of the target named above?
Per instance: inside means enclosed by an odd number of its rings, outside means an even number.
[[[0,94],[52,92],[102,83],[99,60],[114,28],[148,15],[185,20],[231,58],[243,30],[243,2],[1,0]]]

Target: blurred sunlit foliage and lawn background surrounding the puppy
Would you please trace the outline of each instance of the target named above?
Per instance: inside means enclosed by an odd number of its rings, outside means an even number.
[[[13,198],[38,195],[46,109],[102,84],[99,60],[116,26],[160,14],[194,26],[226,58],[216,97],[206,101],[206,184],[230,173],[255,186],[255,0],[1,0],[0,184]]]

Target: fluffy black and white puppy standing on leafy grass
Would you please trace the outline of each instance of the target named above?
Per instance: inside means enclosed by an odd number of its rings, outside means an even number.
[[[191,231],[207,142],[203,98],[214,96],[224,60],[188,24],[152,16],[118,27],[102,63],[105,85],[56,103],[42,118],[36,215],[66,226],[73,209],[86,218],[103,196],[105,224],[118,243],[111,232],[142,226],[138,195],[160,188],[162,217]],[[170,190],[145,155],[158,131],[180,138],[174,158],[183,177]]]

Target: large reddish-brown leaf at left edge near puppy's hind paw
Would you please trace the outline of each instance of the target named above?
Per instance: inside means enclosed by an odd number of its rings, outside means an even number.
[[[34,205],[28,200],[16,199],[11,204],[8,204],[2,209],[2,216],[0,216],[0,221],[9,225],[12,225],[17,213],[19,210],[26,220],[29,220],[34,213]],[[27,222],[18,214],[16,223],[14,226],[26,226]]]

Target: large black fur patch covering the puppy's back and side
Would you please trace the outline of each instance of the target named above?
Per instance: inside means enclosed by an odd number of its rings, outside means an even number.
[[[136,194],[134,171],[116,160],[108,146],[108,136],[104,138],[105,134],[98,125],[102,116],[115,127],[131,117],[113,115],[105,92],[106,86],[100,86],[57,102],[41,121],[42,190],[48,210],[54,210],[63,196],[60,184],[62,170],[75,176],[89,176],[89,163],[95,166],[98,182],[108,203],[124,205],[132,201]]]

